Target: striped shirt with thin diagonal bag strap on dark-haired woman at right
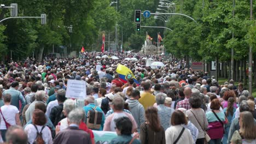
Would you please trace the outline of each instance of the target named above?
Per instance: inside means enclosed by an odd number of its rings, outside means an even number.
[[[195,116],[196,116],[197,120],[199,121],[199,123],[202,125],[203,129],[201,128],[200,124],[197,122]],[[197,139],[202,139],[205,137],[205,132],[204,130],[207,129],[208,127],[208,122],[207,122],[207,118],[205,115],[205,111],[203,111],[203,109],[189,109],[187,111],[187,115],[188,115],[188,119],[191,123],[193,123],[195,125],[195,127],[198,129],[199,134],[197,136]]]

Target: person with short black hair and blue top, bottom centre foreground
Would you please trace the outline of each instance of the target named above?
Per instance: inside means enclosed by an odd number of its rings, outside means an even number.
[[[136,136],[132,137],[132,122],[127,117],[119,117],[115,119],[115,131],[118,134],[118,137],[114,138],[110,141],[110,144],[118,144],[118,143],[129,143],[136,144],[141,143],[136,139]],[[137,134],[136,134],[137,135]]]

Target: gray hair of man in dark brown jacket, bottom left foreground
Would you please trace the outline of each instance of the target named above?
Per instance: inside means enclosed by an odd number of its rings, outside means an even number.
[[[70,123],[80,124],[85,117],[85,112],[83,109],[74,109],[68,113],[68,121]]]

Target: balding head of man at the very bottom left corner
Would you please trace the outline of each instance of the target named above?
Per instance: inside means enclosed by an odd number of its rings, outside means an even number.
[[[11,125],[5,134],[7,143],[26,144],[28,142],[27,134],[19,125]]]

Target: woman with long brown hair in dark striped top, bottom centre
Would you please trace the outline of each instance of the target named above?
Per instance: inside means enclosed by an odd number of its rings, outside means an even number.
[[[146,122],[141,125],[142,144],[165,144],[165,130],[158,117],[158,109],[151,106],[145,112]]]

